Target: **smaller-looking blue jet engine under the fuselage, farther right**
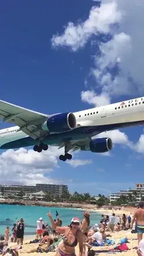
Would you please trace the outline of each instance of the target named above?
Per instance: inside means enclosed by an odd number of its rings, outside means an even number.
[[[85,146],[81,146],[81,150],[91,151],[94,153],[105,153],[112,149],[111,138],[96,138]]]

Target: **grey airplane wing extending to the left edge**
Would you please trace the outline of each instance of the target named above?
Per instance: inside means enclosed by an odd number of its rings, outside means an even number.
[[[2,122],[13,123],[20,127],[25,134],[28,134],[34,140],[46,134],[46,131],[37,131],[36,125],[46,121],[48,115],[36,111],[28,110],[0,100],[0,119]]]

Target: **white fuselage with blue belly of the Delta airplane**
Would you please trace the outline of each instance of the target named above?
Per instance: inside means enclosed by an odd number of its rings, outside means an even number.
[[[68,139],[77,141],[86,138],[88,134],[89,137],[93,137],[107,130],[143,125],[144,97],[114,103],[108,106],[90,108],[88,110],[74,112],[73,114],[75,115],[79,128],[65,133],[51,134],[45,139],[46,144],[56,145],[60,140]],[[36,144],[36,141],[23,131],[17,131],[19,128],[18,126],[13,126],[0,130],[0,147],[2,149],[21,148]],[[16,145],[12,145],[14,141],[17,141]],[[19,141],[20,143],[18,144]],[[5,144],[7,145],[6,147],[4,146]]]

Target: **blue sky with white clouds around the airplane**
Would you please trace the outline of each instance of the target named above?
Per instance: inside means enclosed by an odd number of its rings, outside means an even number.
[[[2,1],[1,100],[55,114],[144,95],[143,0]],[[9,123],[0,128],[10,127]],[[101,134],[110,153],[1,150],[2,184],[65,184],[71,193],[114,193],[143,183],[143,127]]]

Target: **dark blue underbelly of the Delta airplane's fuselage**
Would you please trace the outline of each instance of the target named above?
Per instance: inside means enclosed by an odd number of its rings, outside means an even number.
[[[47,145],[59,145],[63,141],[74,141],[74,140],[84,140],[86,137],[93,137],[103,131],[115,130],[119,128],[124,128],[127,126],[137,126],[143,125],[144,121],[128,122],[128,123],[115,123],[112,125],[101,125],[101,126],[83,126],[77,129],[67,131],[66,133],[58,133],[48,135],[44,139],[44,143]],[[31,137],[21,138],[6,144],[3,144],[1,149],[14,149],[22,148],[26,146],[33,146],[39,143],[39,140],[33,140]]]

